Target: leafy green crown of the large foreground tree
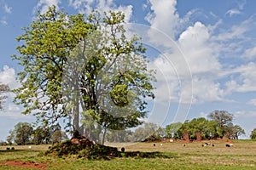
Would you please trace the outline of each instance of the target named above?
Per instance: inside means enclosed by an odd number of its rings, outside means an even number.
[[[44,123],[70,118],[73,131],[80,129],[81,113],[105,133],[141,124],[146,99],[154,98],[154,71],[140,38],[126,36],[124,20],[121,12],[85,17],[55,7],[38,14],[17,38],[22,45],[14,55],[24,67],[15,89],[23,113]]]

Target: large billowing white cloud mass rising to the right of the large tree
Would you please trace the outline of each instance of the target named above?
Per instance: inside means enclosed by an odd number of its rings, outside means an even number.
[[[172,99],[183,99],[185,103],[189,103],[192,94],[193,103],[224,99],[224,89],[221,88],[218,82],[222,65],[218,61],[218,51],[216,52],[218,46],[212,40],[211,35],[214,26],[205,26],[197,21],[194,26],[189,26],[181,32],[176,41],[174,37],[177,37],[178,28],[182,24],[187,25],[186,22],[189,22],[188,18],[191,13],[196,11],[189,11],[185,18],[181,19],[176,11],[176,1],[152,0],[149,2],[153,13],[148,14],[146,20],[153,28],[148,31],[148,36],[151,37],[150,40],[154,42],[155,46],[172,48],[171,51],[162,50],[162,52],[164,51],[162,54],[166,56],[167,60],[171,61],[171,66],[166,66],[166,61],[163,61],[161,56],[154,60],[160,68],[158,71],[161,71],[169,84],[168,89],[172,94]],[[218,24],[219,22],[215,27]],[[155,28],[162,31],[164,36],[159,36]],[[169,39],[165,39],[165,36],[169,36]],[[173,47],[173,43],[177,43],[181,52]],[[187,67],[186,63],[189,66],[188,70],[192,73],[192,79],[188,77],[188,71],[186,76],[183,73],[184,68]],[[162,88],[159,91],[158,94],[161,94],[161,98],[164,98],[166,94],[163,93]],[[168,99],[167,96],[166,99]]]

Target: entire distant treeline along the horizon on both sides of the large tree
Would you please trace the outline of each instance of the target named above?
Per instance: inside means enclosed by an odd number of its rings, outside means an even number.
[[[185,122],[173,122],[166,127],[160,127],[153,122],[144,123],[143,126],[132,130],[99,130],[98,127],[90,135],[82,134],[87,138],[101,143],[122,143],[157,141],[162,139],[183,140],[187,135],[189,140],[200,139],[238,139],[245,131],[233,124],[233,115],[227,111],[213,111],[208,119],[194,118]],[[102,133],[104,132],[104,133]],[[14,130],[9,132],[9,144],[53,144],[67,139],[67,134],[61,131],[59,124],[51,127],[32,127],[30,123],[19,122]],[[200,135],[200,136],[198,136]],[[251,139],[256,139],[256,128],[253,129]]]

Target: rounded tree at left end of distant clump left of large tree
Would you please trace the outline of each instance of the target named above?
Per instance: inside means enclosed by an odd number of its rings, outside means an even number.
[[[26,144],[31,139],[33,132],[32,125],[28,122],[19,122],[15,129],[10,131],[9,140],[14,139],[16,144]]]

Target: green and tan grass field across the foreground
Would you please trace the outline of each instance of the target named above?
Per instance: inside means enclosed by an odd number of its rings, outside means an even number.
[[[0,169],[256,169],[256,141],[234,140],[232,147],[225,142],[213,141],[214,146],[202,147],[203,143],[138,143],[119,144],[125,151],[140,151],[153,158],[122,157],[111,160],[86,160],[83,158],[38,156],[49,145],[15,146],[15,150],[0,147]],[[11,146],[12,147],[12,146]],[[22,166],[9,165],[9,161],[21,162]],[[27,165],[27,167],[26,167]],[[34,165],[34,166],[28,166]]]

